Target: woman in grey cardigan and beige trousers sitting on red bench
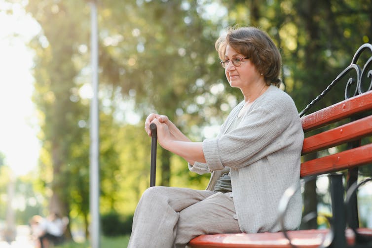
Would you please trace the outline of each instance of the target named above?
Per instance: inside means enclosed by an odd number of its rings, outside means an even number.
[[[303,131],[292,98],[278,88],[280,53],[261,30],[230,29],[216,49],[231,87],[244,100],[229,114],[217,138],[191,142],[166,116],[150,114],[159,144],[188,162],[191,171],[212,172],[206,190],[151,187],[134,215],[129,247],[185,247],[216,233],[277,232],[284,191],[299,183]],[[285,228],[297,229],[301,195],[291,199]]]

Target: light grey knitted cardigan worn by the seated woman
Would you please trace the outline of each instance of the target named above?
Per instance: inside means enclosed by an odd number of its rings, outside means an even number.
[[[213,190],[224,166],[230,167],[231,186],[240,230],[246,233],[277,232],[278,205],[284,191],[299,186],[303,131],[292,98],[270,86],[229,133],[228,126],[239,113],[239,103],[221,126],[217,138],[203,141],[207,163],[188,165],[198,174],[210,173],[207,190]],[[292,197],[285,217],[287,230],[301,221],[300,190]]]

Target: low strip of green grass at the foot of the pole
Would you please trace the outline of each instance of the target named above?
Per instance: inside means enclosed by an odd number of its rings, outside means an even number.
[[[129,235],[119,237],[102,237],[101,247],[102,248],[123,248],[127,247],[129,242]],[[88,241],[84,243],[67,242],[55,248],[91,248]]]

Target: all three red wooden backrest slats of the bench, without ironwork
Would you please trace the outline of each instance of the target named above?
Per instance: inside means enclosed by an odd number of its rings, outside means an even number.
[[[335,124],[349,118],[351,121],[326,131],[306,137],[303,141],[302,155],[325,150],[362,137],[372,135],[372,115],[361,119],[355,118],[358,114],[365,115],[372,110],[372,91],[352,97],[330,107],[321,109],[308,116],[302,117],[304,133]],[[356,119],[355,121],[353,121]],[[349,149],[348,149],[349,148]],[[329,173],[354,166],[372,163],[372,144],[353,148],[347,146],[345,150],[325,157],[316,158],[301,164],[301,177]]]

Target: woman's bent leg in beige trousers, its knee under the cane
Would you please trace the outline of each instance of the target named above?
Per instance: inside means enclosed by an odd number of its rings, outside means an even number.
[[[207,190],[150,187],[137,205],[128,247],[172,247],[179,212],[213,194],[213,191]]]

